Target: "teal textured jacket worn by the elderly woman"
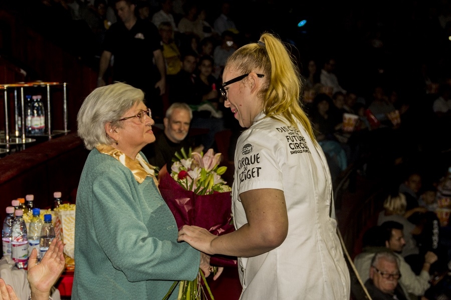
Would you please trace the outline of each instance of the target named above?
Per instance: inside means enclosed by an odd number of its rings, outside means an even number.
[[[151,177],[138,183],[120,161],[93,149],[76,204],[73,300],[161,300],[175,280],[196,277],[200,252],[177,242],[175,219]]]

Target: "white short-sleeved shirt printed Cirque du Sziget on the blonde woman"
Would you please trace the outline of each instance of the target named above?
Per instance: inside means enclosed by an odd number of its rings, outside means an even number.
[[[349,270],[336,233],[332,184],[326,158],[301,131],[260,113],[235,151],[235,227],[247,223],[242,192],[284,191],[289,228],[277,248],[239,258],[242,300],[343,299],[350,295]]]

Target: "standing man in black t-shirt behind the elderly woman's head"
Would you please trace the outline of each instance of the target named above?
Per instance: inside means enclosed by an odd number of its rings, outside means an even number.
[[[146,104],[158,119],[163,115],[161,95],[166,88],[160,35],[155,25],[136,16],[133,0],[116,0],[115,7],[120,21],[105,33],[97,86],[105,85],[105,72],[111,62],[112,80],[142,89]]]

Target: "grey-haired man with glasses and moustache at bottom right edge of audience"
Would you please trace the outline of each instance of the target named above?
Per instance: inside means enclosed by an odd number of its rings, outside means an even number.
[[[365,287],[373,300],[407,300],[408,296],[398,284],[401,273],[398,258],[391,251],[380,251],[371,260],[369,278]]]

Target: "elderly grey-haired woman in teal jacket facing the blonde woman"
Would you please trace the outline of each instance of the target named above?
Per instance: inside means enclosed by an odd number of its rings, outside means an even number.
[[[208,276],[209,256],[177,242],[154,167],[140,153],[155,140],[144,93],[119,82],[96,88],[77,121],[91,152],[77,192],[72,299],[160,300],[199,266]]]

